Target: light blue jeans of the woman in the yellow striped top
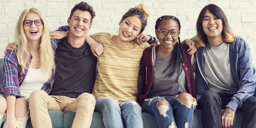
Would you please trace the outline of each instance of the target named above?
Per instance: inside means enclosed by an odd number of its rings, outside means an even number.
[[[114,99],[98,97],[94,111],[102,113],[105,128],[143,128],[141,108],[137,102],[119,105]]]

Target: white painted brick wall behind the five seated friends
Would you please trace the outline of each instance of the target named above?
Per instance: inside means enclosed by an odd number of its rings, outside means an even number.
[[[18,16],[25,8],[40,9],[50,23],[50,29],[67,24],[70,10],[81,0],[0,0],[0,58],[13,34]],[[122,15],[139,3],[148,6],[150,17],[144,33],[154,35],[154,24],[162,15],[174,15],[181,21],[181,40],[195,35],[195,23],[201,9],[213,3],[227,15],[230,26],[250,45],[253,64],[256,66],[256,0],[83,0],[93,6],[96,17],[88,32],[116,34]]]

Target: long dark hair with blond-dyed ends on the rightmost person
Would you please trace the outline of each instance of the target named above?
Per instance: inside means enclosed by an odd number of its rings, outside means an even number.
[[[204,47],[205,43],[208,42],[207,35],[204,33],[202,25],[204,20],[204,14],[207,9],[213,15],[221,19],[223,26],[221,35],[224,41],[232,43],[234,41],[235,33],[232,32],[232,29],[228,24],[227,16],[220,7],[216,6],[215,4],[208,4],[207,6],[204,6],[204,8],[201,10],[198,16],[198,20],[196,22],[197,35],[193,39],[197,41],[197,47]]]

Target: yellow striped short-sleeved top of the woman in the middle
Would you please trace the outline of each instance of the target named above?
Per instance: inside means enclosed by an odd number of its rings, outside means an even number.
[[[127,46],[119,46],[112,41],[110,33],[106,32],[95,33],[91,38],[104,47],[103,54],[98,58],[93,96],[111,97],[119,104],[136,100],[140,59],[144,49],[150,45],[138,45],[132,41]]]

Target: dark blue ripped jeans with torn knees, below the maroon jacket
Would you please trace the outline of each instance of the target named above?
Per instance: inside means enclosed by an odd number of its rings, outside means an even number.
[[[157,103],[162,100],[169,103],[169,109],[164,112],[160,112],[157,107]],[[145,100],[141,108],[143,112],[156,117],[159,128],[192,128],[194,105],[188,108],[176,99],[156,97]]]

